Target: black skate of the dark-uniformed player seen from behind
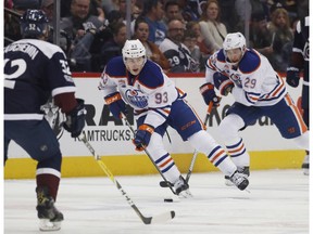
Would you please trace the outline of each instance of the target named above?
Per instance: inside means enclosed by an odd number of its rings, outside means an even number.
[[[48,187],[37,187],[37,216],[40,220],[40,231],[58,231],[61,229],[63,213],[54,207],[54,200],[49,195]]]

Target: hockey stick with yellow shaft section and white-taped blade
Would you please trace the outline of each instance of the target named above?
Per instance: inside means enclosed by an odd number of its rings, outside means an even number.
[[[126,192],[123,190],[122,185],[118,183],[118,181],[114,178],[110,169],[107,167],[107,165],[101,160],[101,157],[96,153],[95,148],[91,146],[91,144],[88,142],[86,134],[83,132],[78,139],[83,141],[83,143],[86,145],[86,147],[89,150],[89,152],[93,155],[96,161],[100,166],[100,168],[104,171],[104,173],[110,178],[110,180],[116,185],[117,190],[121,191],[122,195],[126,198],[130,207],[135,210],[135,212],[139,216],[139,218],[142,220],[145,224],[151,224],[156,222],[165,222],[167,220],[172,220],[175,217],[175,211],[171,210],[170,212],[160,213],[154,217],[145,217],[138,207],[135,205],[135,203],[130,199],[130,197],[126,194]]]

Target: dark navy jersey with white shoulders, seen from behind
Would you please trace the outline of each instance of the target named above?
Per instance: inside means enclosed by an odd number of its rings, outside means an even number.
[[[61,48],[22,39],[4,48],[4,119],[42,119],[40,106],[76,88]]]

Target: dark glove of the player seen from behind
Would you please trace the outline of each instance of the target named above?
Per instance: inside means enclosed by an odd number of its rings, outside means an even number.
[[[77,106],[66,115],[66,121],[63,125],[64,129],[71,132],[72,138],[77,138],[85,127],[85,101],[77,99]]]

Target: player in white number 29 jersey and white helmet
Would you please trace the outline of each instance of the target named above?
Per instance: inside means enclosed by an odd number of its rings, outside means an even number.
[[[309,150],[308,128],[284,80],[265,56],[246,48],[242,34],[228,34],[223,49],[209,57],[205,81],[200,87],[205,104],[214,101],[215,106],[218,105],[214,87],[221,95],[231,93],[235,99],[218,132],[238,171],[250,174],[250,157],[239,131],[262,116],[272,119],[283,138],[292,139],[297,146]]]

